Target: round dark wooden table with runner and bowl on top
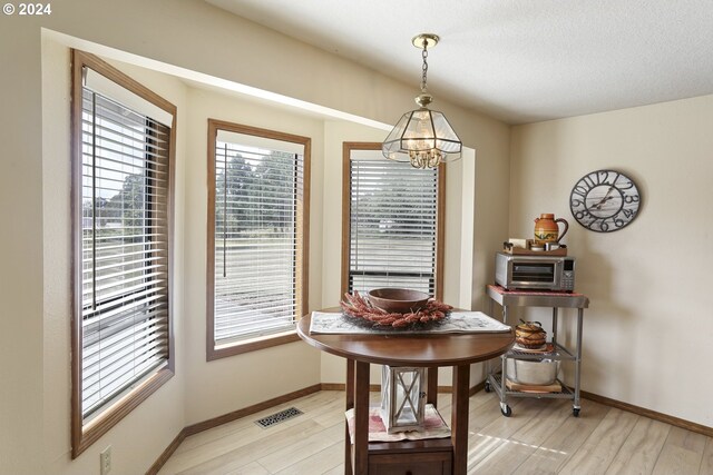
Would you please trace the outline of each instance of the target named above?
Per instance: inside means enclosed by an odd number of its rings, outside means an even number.
[[[339,313],[338,308],[321,311]],[[370,454],[403,454],[418,459],[418,454],[452,447],[452,474],[466,475],[468,466],[468,398],[470,365],[495,358],[507,352],[515,333],[480,334],[316,334],[310,335],[311,315],[297,324],[297,335],[310,345],[346,358],[346,409],[354,409],[354,441],[345,427],[345,474],[368,474]],[[369,365],[416,366],[428,368],[427,402],[436,406],[438,368],[452,366],[451,439],[403,443],[369,443]],[[346,426],[346,424],[345,424]],[[395,447],[401,447],[398,449]],[[384,452],[385,451],[385,452]],[[414,455],[416,454],[416,455]],[[353,459],[352,459],[353,455]],[[372,465],[373,465],[373,461]]]

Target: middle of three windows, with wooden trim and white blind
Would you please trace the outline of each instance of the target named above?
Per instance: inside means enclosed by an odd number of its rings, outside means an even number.
[[[208,120],[207,359],[297,339],[310,139]]]

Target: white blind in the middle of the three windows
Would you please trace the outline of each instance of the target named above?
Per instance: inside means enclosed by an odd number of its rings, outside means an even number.
[[[214,344],[292,330],[300,305],[304,147],[219,130]]]

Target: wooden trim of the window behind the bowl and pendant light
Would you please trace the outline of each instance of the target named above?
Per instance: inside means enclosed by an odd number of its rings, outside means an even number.
[[[351,207],[350,207],[350,169],[352,150],[381,150],[380,142],[343,142],[342,144],[342,285],[340,300],[349,290],[350,241],[351,241]],[[385,158],[384,158],[385,160]],[[443,298],[443,249],[446,229],[446,166],[438,169],[438,202],[436,204],[436,295]]]

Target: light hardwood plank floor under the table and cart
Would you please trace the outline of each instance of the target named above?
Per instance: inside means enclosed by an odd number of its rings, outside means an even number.
[[[378,395],[372,394],[372,400]],[[713,438],[584,399],[579,417],[563,399],[470,398],[469,474],[713,475]],[[286,407],[304,414],[261,428]],[[450,420],[450,394],[438,407]],[[344,393],[323,390],[187,437],[159,475],[341,475]]]

